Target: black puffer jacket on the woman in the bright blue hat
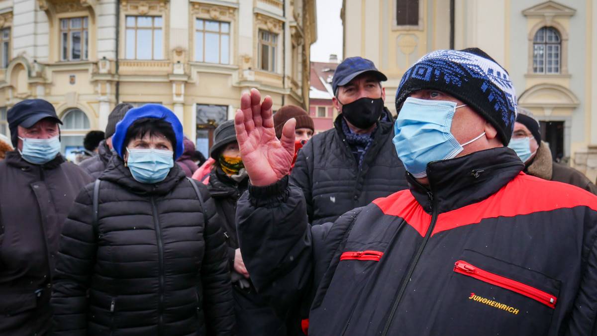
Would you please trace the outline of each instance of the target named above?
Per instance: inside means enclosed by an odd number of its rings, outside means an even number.
[[[76,198],[61,236],[52,296],[58,335],[231,335],[226,245],[213,200],[176,164],[156,185],[118,155]],[[89,290],[88,297],[86,292]]]

